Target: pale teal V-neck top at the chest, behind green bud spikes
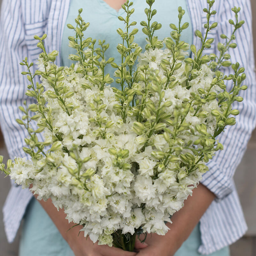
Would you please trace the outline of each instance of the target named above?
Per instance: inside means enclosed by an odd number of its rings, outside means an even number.
[[[162,28],[157,30],[154,36],[158,36],[159,39],[164,39],[164,37],[170,36],[170,32],[172,29],[169,24],[173,23],[176,26],[179,24],[178,20],[178,7],[181,6],[185,10],[185,15],[182,18],[182,24],[185,22],[189,22],[189,27],[184,30],[182,34],[181,40],[185,41],[188,44],[192,44],[193,40],[193,30],[190,21],[190,16],[187,8],[186,0],[156,0],[153,4],[152,8],[157,10],[155,16],[153,16],[153,21],[157,21],[162,24]],[[135,35],[135,42],[139,44],[142,49],[144,49],[146,45],[145,37],[141,31],[142,27],[140,25],[140,21],[146,20],[147,16],[144,12],[145,8],[148,7],[146,4],[146,0],[133,0],[133,5],[131,8],[135,9],[135,12],[132,14],[130,21],[137,21],[137,25],[131,27],[138,28],[139,32]],[[109,43],[109,48],[105,54],[105,59],[108,60],[110,57],[115,58],[115,62],[117,64],[121,63],[121,55],[116,50],[116,45],[122,43],[121,36],[119,36],[116,32],[117,28],[124,29],[124,22],[118,20],[118,16],[125,17],[125,12],[123,9],[120,9],[118,12],[110,7],[103,0],[71,0],[68,17],[66,20],[66,24],[72,24],[74,27],[76,26],[75,18],[78,15],[78,9],[83,8],[83,12],[81,14],[82,18],[85,22],[90,22],[90,26],[84,32],[84,37],[92,37],[97,40],[106,40],[106,43]],[[62,45],[61,45],[61,59],[62,65],[70,66],[72,64],[72,60],[68,59],[68,55],[70,53],[76,53],[76,51],[68,46],[68,36],[74,36],[74,30],[69,29],[67,26],[64,28],[63,37],[62,37]],[[109,73],[112,78],[115,69],[108,64],[105,68],[105,74]],[[112,83],[112,86],[118,88],[119,85]]]

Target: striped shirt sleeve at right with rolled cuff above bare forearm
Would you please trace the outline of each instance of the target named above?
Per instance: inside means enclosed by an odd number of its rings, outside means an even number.
[[[231,62],[240,63],[240,67],[245,68],[246,80],[244,84],[248,86],[246,91],[240,91],[239,96],[244,100],[242,102],[234,102],[233,109],[238,109],[240,115],[236,117],[236,125],[228,126],[224,133],[218,139],[223,144],[224,150],[218,151],[216,156],[207,164],[210,168],[203,176],[202,183],[209,188],[218,199],[222,199],[231,193],[234,189],[232,179],[234,172],[240,163],[246,145],[250,139],[252,130],[256,123],[256,83],[254,74],[254,58],[253,58],[253,42],[252,42],[252,13],[250,0],[217,0],[215,8],[217,8],[218,27],[215,41],[218,42],[221,34],[230,36],[232,34],[232,25],[228,20],[235,20],[235,14],[231,8],[241,7],[238,14],[239,20],[244,20],[242,28],[236,31],[237,48],[229,49]],[[224,41],[224,40],[223,40]],[[215,52],[217,50],[217,42],[215,43]],[[221,41],[220,41],[221,42]],[[233,74],[231,68],[222,68],[220,71],[224,74]],[[227,90],[232,88],[232,83],[228,81]]]

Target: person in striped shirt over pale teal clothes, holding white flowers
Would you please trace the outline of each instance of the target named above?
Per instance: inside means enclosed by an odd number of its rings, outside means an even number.
[[[20,118],[18,106],[24,100],[31,101],[25,95],[27,83],[20,76],[22,66],[17,63],[28,56],[36,62],[41,49],[33,41],[35,34],[42,36],[48,34],[45,46],[46,51],[61,49],[57,57],[57,64],[70,66],[68,54],[72,53],[68,47],[69,31],[66,24],[74,24],[77,8],[83,8],[86,22],[90,27],[86,31],[92,38],[104,38],[109,44],[105,58],[120,58],[115,45],[120,43],[120,36],[116,34],[119,28],[118,16],[124,16],[121,5],[124,0],[97,0],[97,1],[32,1],[3,0],[1,8],[0,31],[3,36],[0,42],[0,124],[5,142],[11,158],[25,156],[22,151],[26,132],[15,123]],[[156,20],[162,28],[156,32],[159,39],[169,35],[169,24],[178,23],[177,10],[179,6],[185,10],[183,21],[189,22],[187,33],[182,40],[198,47],[195,31],[203,30],[206,15],[202,12],[207,7],[206,0],[194,1],[164,1],[157,0],[154,8],[157,9]],[[184,202],[184,207],[171,217],[172,224],[166,225],[170,230],[165,236],[148,234],[145,243],[136,241],[135,252],[126,252],[108,245],[93,244],[84,236],[77,236],[81,226],[75,227],[68,223],[65,213],[56,210],[51,200],[36,201],[31,192],[22,190],[20,186],[12,184],[12,188],[4,206],[4,224],[9,242],[12,242],[24,216],[22,236],[20,241],[20,256],[23,255],[67,255],[67,256],[181,256],[181,255],[229,255],[228,245],[234,243],[244,235],[246,223],[236,188],[233,175],[239,164],[250,134],[255,127],[256,115],[256,88],[254,76],[253,43],[251,8],[249,0],[215,2],[217,11],[212,22],[218,21],[218,28],[212,34],[214,42],[212,48],[217,54],[217,42],[220,35],[231,35],[233,18],[231,8],[235,5],[241,7],[240,20],[244,20],[242,30],[236,31],[237,48],[229,49],[232,62],[239,61],[245,68],[248,89],[242,91],[244,101],[235,106],[240,115],[236,118],[236,125],[219,137],[224,150],[219,151],[213,160],[207,164],[210,168],[203,176],[202,182],[194,189],[193,196]],[[144,19],[144,1],[134,0],[135,9],[133,19],[139,22]],[[140,29],[139,29],[140,30]],[[136,42],[146,45],[145,35],[138,32]],[[192,55],[192,53],[190,53]],[[154,60],[155,61],[155,60]],[[137,63],[136,63],[137,64]],[[136,65],[135,64],[135,65]],[[224,73],[226,69],[220,70]],[[106,74],[112,74],[115,69],[106,68]],[[229,72],[229,70],[228,70]],[[118,85],[116,85],[118,87]],[[67,230],[70,230],[67,232]]]

